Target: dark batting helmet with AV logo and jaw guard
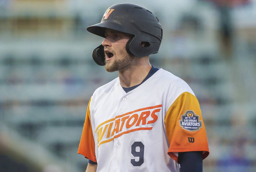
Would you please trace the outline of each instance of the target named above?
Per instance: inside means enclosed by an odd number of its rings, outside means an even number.
[[[129,33],[132,38],[126,44],[126,51],[137,57],[145,57],[158,53],[163,30],[156,15],[150,10],[136,4],[115,4],[104,13],[101,22],[87,28],[87,31],[105,38],[105,30]],[[146,42],[142,46],[141,42]],[[93,60],[101,66],[105,65],[103,45],[92,52]]]

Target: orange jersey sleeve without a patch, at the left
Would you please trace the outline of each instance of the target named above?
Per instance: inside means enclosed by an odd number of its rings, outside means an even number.
[[[95,156],[95,142],[91,127],[90,102],[91,99],[87,107],[86,118],[83,125],[83,132],[77,153],[82,154],[85,158],[90,159],[93,162],[97,162]]]

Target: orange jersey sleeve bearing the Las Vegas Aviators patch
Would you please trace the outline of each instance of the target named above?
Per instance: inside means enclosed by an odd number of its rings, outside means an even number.
[[[167,110],[164,121],[170,145],[168,155],[176,162],[177,152],[203,151],[203,159],[209,155],[204,121],[193,94],[182,93]]]

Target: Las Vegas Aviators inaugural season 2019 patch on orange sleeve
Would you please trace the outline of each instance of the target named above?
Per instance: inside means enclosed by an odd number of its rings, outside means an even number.
[[[202,121],[199,120],[199,116],[196,115],[193,110],[187,110],[187,112],[181,116],[179,124],[180,127],[188,131],[197,131],[202,128]]]

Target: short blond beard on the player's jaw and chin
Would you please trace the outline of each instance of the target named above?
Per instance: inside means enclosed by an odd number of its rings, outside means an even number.
[[[128,68],[134,63],[135,56],[128,54],[126,50],[121,50],[120,54],[124,54],[125,56],[123,56],[121,59],[113,59],[114,61],[112,64],[110,64],[110,62],[106,61],[105,59],[105,70],[107,72],[122,70]]]

